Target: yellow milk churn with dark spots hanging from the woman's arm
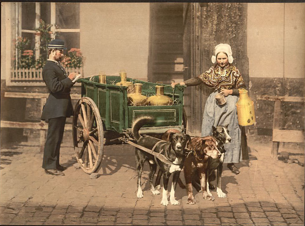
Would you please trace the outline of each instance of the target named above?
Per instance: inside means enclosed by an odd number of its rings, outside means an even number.
[[[239,125],[250,126],[255,123],[254,102],[248,96],[248,90],[239,89],[236,107]]]

